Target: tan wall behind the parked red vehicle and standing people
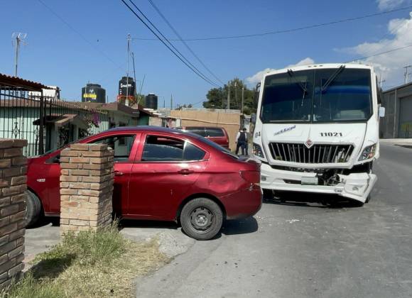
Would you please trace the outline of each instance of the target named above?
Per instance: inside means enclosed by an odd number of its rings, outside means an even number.
[[[237,132],[240,128],[239,111],[212,110],[172,110],[170,117],[180,118],[181,126],[219,126],[229,134],[229,148],[236,149]]]

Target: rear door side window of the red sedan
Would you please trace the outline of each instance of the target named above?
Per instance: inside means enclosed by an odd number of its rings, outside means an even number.
[[[185,140],[163,136],[146,136],[142,161],[175,162],[202,160],[205,151]]]

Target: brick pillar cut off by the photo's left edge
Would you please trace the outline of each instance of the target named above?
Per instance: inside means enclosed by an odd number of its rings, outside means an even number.
[[[0,138],[0,289],[21,277],[26,232],[27,140]]]

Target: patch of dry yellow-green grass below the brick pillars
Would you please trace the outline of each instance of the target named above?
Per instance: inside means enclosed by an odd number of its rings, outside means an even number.
[[[38,255],[31,270],[1,297],[134,297],[134,280],[168,262],[156,239],[135,243],[116,226],[67,235]]]

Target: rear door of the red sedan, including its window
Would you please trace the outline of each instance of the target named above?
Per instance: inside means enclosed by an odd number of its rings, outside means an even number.
[[[142,134],[131,169],[132,217],[170,219],[205,169],[208,153],[190,140],[161,133]]]

